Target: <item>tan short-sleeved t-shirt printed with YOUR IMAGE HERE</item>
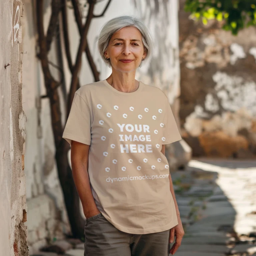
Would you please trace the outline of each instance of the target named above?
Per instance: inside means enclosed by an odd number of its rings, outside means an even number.
[[[79,88],[63,138],[90,145],[88,173],[96,205],[131,234],[178,224],[162,144],[181,140],[166,95],[139,82],[130,93],[106,80]]]

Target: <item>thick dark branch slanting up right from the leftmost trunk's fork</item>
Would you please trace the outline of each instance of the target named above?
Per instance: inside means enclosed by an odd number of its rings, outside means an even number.
[[[58,22],[58,16],[61,9],[61,0],[52,0],[52,14],[47,30],[47,36],[46,36],[46,44],[47,44],[47,52],[49,52],[51,48],[52,39],[54,37],[54,33],[56,30],[56,25]]]

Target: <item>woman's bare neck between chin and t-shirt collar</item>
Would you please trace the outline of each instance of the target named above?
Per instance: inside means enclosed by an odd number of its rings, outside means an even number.
[[[134,92],[139,87],[139,81],[135,80],[135,72],[119,73],[112,70],[112,74],[106,80],[121,92]]]

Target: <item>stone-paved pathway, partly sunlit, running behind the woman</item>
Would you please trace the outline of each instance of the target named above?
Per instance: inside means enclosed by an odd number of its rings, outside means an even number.
[[[191,160],[172,180],[185,230],[176,256],[256,256],[256,161]],[[79,240],[56,243],[83,256]],[[57,256],[57,247],[34,256]]]

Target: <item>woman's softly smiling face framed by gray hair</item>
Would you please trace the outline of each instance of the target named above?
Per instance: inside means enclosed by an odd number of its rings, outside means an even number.
[[[120,29],[110,38],[104,54],[110,58],[112,69],[127,73],[136,70],[146,57],[140,31],[135,27]]]

